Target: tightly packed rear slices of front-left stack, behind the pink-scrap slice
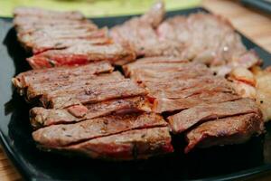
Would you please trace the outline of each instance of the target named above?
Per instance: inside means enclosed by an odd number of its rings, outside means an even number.
[[[100,62],[76,68],[27,71],[14,78],[14,85],[26,95],[28,101],[39,99],[43,107],[51,109],[135,97],[147,93],[145,89],[125,79],[117,71],[91,74],[91,71],[92,73],[111,71],[112,67],[109,64],[108,67],[105,65],[99,67],[99,65]]]

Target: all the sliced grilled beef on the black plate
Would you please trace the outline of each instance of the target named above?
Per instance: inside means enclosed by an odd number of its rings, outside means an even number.
[[[30,110],[41,148],[134,159],[173,152],[168,127],[174,134],[186,131],[185,152],[242,143],[264,130],[256,102],[240,98],[223,77],[236,66],[257,64],[257,55],[218,16],[163,22],[159,2],[112,28],[111,39],[107,28],[76,12],[18,8],[14,15],[19,41],[33,52],[27,59],[33,69],[66,66],[13,79],[26,100],[42,103]],[[131,80],[110,64],[126,64]],[[169,125],[155,112],[166,112]]]

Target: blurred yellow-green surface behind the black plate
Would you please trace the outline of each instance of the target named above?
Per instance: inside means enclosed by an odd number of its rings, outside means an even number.
[[[0,0],[0,16],[12,16],[16,6],[37,6],[53,10],[79,10],[87,16],[142,14],[154,0]],[[164,0],[167,10],[200,5],[201,0]]]

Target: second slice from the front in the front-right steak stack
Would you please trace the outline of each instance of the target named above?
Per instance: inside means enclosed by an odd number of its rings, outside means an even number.
[[[188,110],[182,110],[168,118],[174,133],[180,133],[192,128],[193,125],[209,119],[220,119],[248,113],[259,113],[255,100],[240,99],[208,105],[198,105]]]

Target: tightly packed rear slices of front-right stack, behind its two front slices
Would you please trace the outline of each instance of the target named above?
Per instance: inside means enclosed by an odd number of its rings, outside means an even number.
[[[165,57],[156,58],[166,60]],[[189,108],[189,105],[195,106],[205,101],[218,102],[222,96],[225,96],[222,99],[225,101],[238,98],[229,81],[214,76],[204,64],[176,60],[176,58],[175,60],[168,58],[167,62],[139,60],[124,66],[127,76],[149,90],[148,97],[154,100],[154,111],[183,110],[187,106]],[[212,97],[213,95],[218,97]],[[178,102],[179,106],[176,105]],[[172,103],[172,106],[168,107],[167,103]]]

